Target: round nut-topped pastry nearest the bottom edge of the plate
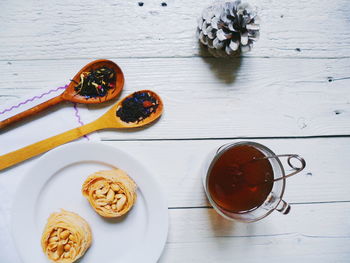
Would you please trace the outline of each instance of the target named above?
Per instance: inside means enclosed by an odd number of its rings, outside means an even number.
[[[91,240],[89,224],[78,214],[61,209],[48,218],[41,246],[53,262],[72,263],[85,254]]]

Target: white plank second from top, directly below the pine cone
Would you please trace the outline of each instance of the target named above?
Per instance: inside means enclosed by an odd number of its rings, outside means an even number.
[[[1,62],[2,101],[32,89],[62,86],[87,62]],[[350,131],[350,59],[115,62],[125,73],[121,97],[140,89],[154,90],[164,100],[164,115],[145,130],[101,133],[106,140],[348,135]],[[90,107],[95,118],[107,108]]]

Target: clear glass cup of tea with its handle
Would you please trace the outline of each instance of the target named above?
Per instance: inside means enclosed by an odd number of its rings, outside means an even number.
[[[286,174],[280,157],[293,169]],[[295,161],[299,162],[296,166]],[[223,217],[243,222],[258,221],[274,210],[288,214],[283,198],[286,178],[305,168],[296,154],[276,155],[255,142],[225,144],[209,156],[203,185],[214,209]]]

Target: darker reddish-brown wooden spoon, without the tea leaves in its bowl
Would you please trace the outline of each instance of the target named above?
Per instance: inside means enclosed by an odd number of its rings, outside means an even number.
[[[104,97],[96,97],[96,98],[86,98],[84,96],[81,96],[79,94],[77,94],[77,92],[75,91],[75,87],[77,86],[77,83],[80,82],[80,75],[83,72],[89,72],[92,70],[95,70],[97,68],[101,68],[103,66],[106,66],[110,69],[113,69],[116,73],[116,82],[114,83],[115,88],[114,89],[110,89],[107,93],[106,96]],[[75,103],[84,103],[84,104],[96,104],[96,103],[102,103],[108,100],[111,100],[115,97],[117,97],[121,90],[123,89],[124,86],[124,74],[122,72],[122,70],[119,68],[119,66],[117,64],[115,64],[113,61],[110,60],[106,60],[106,59],[99,59],[99,60],[95,60],[90,62],[89,64],[87,64],[85,67],[83,67],[72,79],[72,81],[69,83],[68,87],[65,89],[65,91],[58,95],[57,97],[54,97],[48,101],[45,101],[37,106],[34,106],[33,108],[30,108],[26,111],[23,111],[21,113],[18,113],[17,115],[14,115],[8,119],[5,119],[3,121],[0,122],[0,129],[18,122],[28,116],[32,116],[35,115],[47,108],[49,108],[50,106],[53,106],[57,103],[60,103],[62,101],[71,101],[71,102],[75,102]]]

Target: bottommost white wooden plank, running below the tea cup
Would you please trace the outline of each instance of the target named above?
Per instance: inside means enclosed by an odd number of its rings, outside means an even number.
[[[253,224],[213,209],[170,210],[160,262],[348,262],[350,204],[297,205]]]

